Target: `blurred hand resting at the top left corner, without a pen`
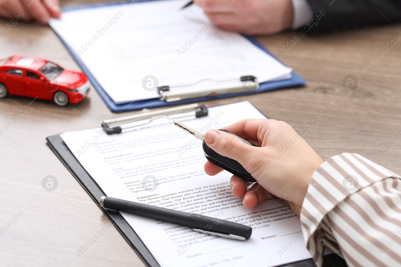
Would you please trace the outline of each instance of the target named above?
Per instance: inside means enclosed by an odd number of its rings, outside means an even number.
[[[59,18],[59,0],[0,0],[0,16],[8,19],[37,20],[48,24],[49,18]]]

